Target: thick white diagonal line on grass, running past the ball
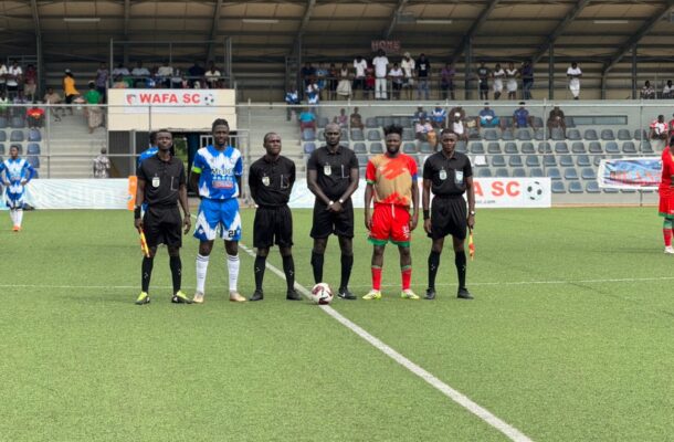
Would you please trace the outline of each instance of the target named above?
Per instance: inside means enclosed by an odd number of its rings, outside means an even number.
[[[249,255],[255,256],[255,253],[251,249],[246,248],[245,245],[243,245],[241,243],[239,243],[239,246]],[[285,280],[284,273],[282,271],[280,271],[278,269],[276,269],[275,266],[273,266],[272,264],[270,264],[268,261],[266,263],[266,267],[271,272],[276,274],[278,277]],[[295,282],[295,288],[297,291],[299,291],[307,298],[309,297],[309,291],[306,287],[304,287],[303,285],[301,285],[299,283]],[[531,442],[531,439],[529,439],[522,431],[517,430],[515,427],[501,420],[499,418],[494,415],[487,409],[475,403],[467,396],[465,396],[465,394],[461,393],[460,391],[453,389],[452,387],[447,386],[446,383],[444,383],[443,381],[438,379],[435,376],[433,376],[429,371],[424,370],[423,368],[421,368],[417,364],[412,362],[411,360],[409,360],[408,358],[406,358],[404,356],[402,356],[401,354],[399,354],[398,351],[396,351],[394,349],[392,349],[391,347],[389,347],[388,345],[386,345],[385,343],[382,343],[375,336],[370,335],[368,332],[362,329],[360,326],[356,325],[355,323],[350,322],[349,319],[347,319],[346,317],[340,315],[337,311],[335,311],[330,306],[323,305],[323,306],[320,306],[320,308],[323,308],[323,311],[325,313],[330,315],[334,319],[339,322],[341,325],[344,325],[345,327],[347,327],[348,329],[354,332],[356,335],[360,336],[362,339],[368,341],[371,346],[373,346],[375,348],[377,348],[378,350],[383,352],[386,356],[388,356],[389,358],[393,359],[396,362],[400,364],[401,366],[403,366],[404,368],[410,370],[412,373],[414,373],[418,377],[420,377],[421,379],[423,379],[425,382],[431,385],[438,391],[442,392],[444,396],[452,399],[454,402],[456,402],[461,407],[465,408],[471,413],[475,414],[476,417],[478,417],[480,419],[482,419],[489,425],[494,427],[496,430],[501,431],[512,441]]]

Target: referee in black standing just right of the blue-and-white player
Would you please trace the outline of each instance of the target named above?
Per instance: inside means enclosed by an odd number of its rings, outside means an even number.
[[[250,301],[262,301],[262,281],[270,248],[276,243],[283,259],[283,272],[287,284],[286,299],[299,301],[295,291],[295,263],[293,261],[293,214],[287,203],[295,183],[295,162],[281,155],[281,137],[268,133],[264,136],[266,154],[251,165],[249,187],[257,204],[253,222],[255,256],[255,293]]]

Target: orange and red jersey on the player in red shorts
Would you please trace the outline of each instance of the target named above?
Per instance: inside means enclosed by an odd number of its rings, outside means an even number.
[[[412,185],[417,185],[417,162],[404,154],[393,158],[380,154],[368,161],[365,178],[373,186],[375,203],[410,207]]]

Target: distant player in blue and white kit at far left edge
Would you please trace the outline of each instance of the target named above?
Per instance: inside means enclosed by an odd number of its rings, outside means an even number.
[[[12,230],[19,232],[23,221],[25,185],[35,176],[35,169],[25,159],[19,158],[18,146],[10,147],[9,155],[10,158],[0,164],[0,180],[4,185],[6,203],[14,224]]]

